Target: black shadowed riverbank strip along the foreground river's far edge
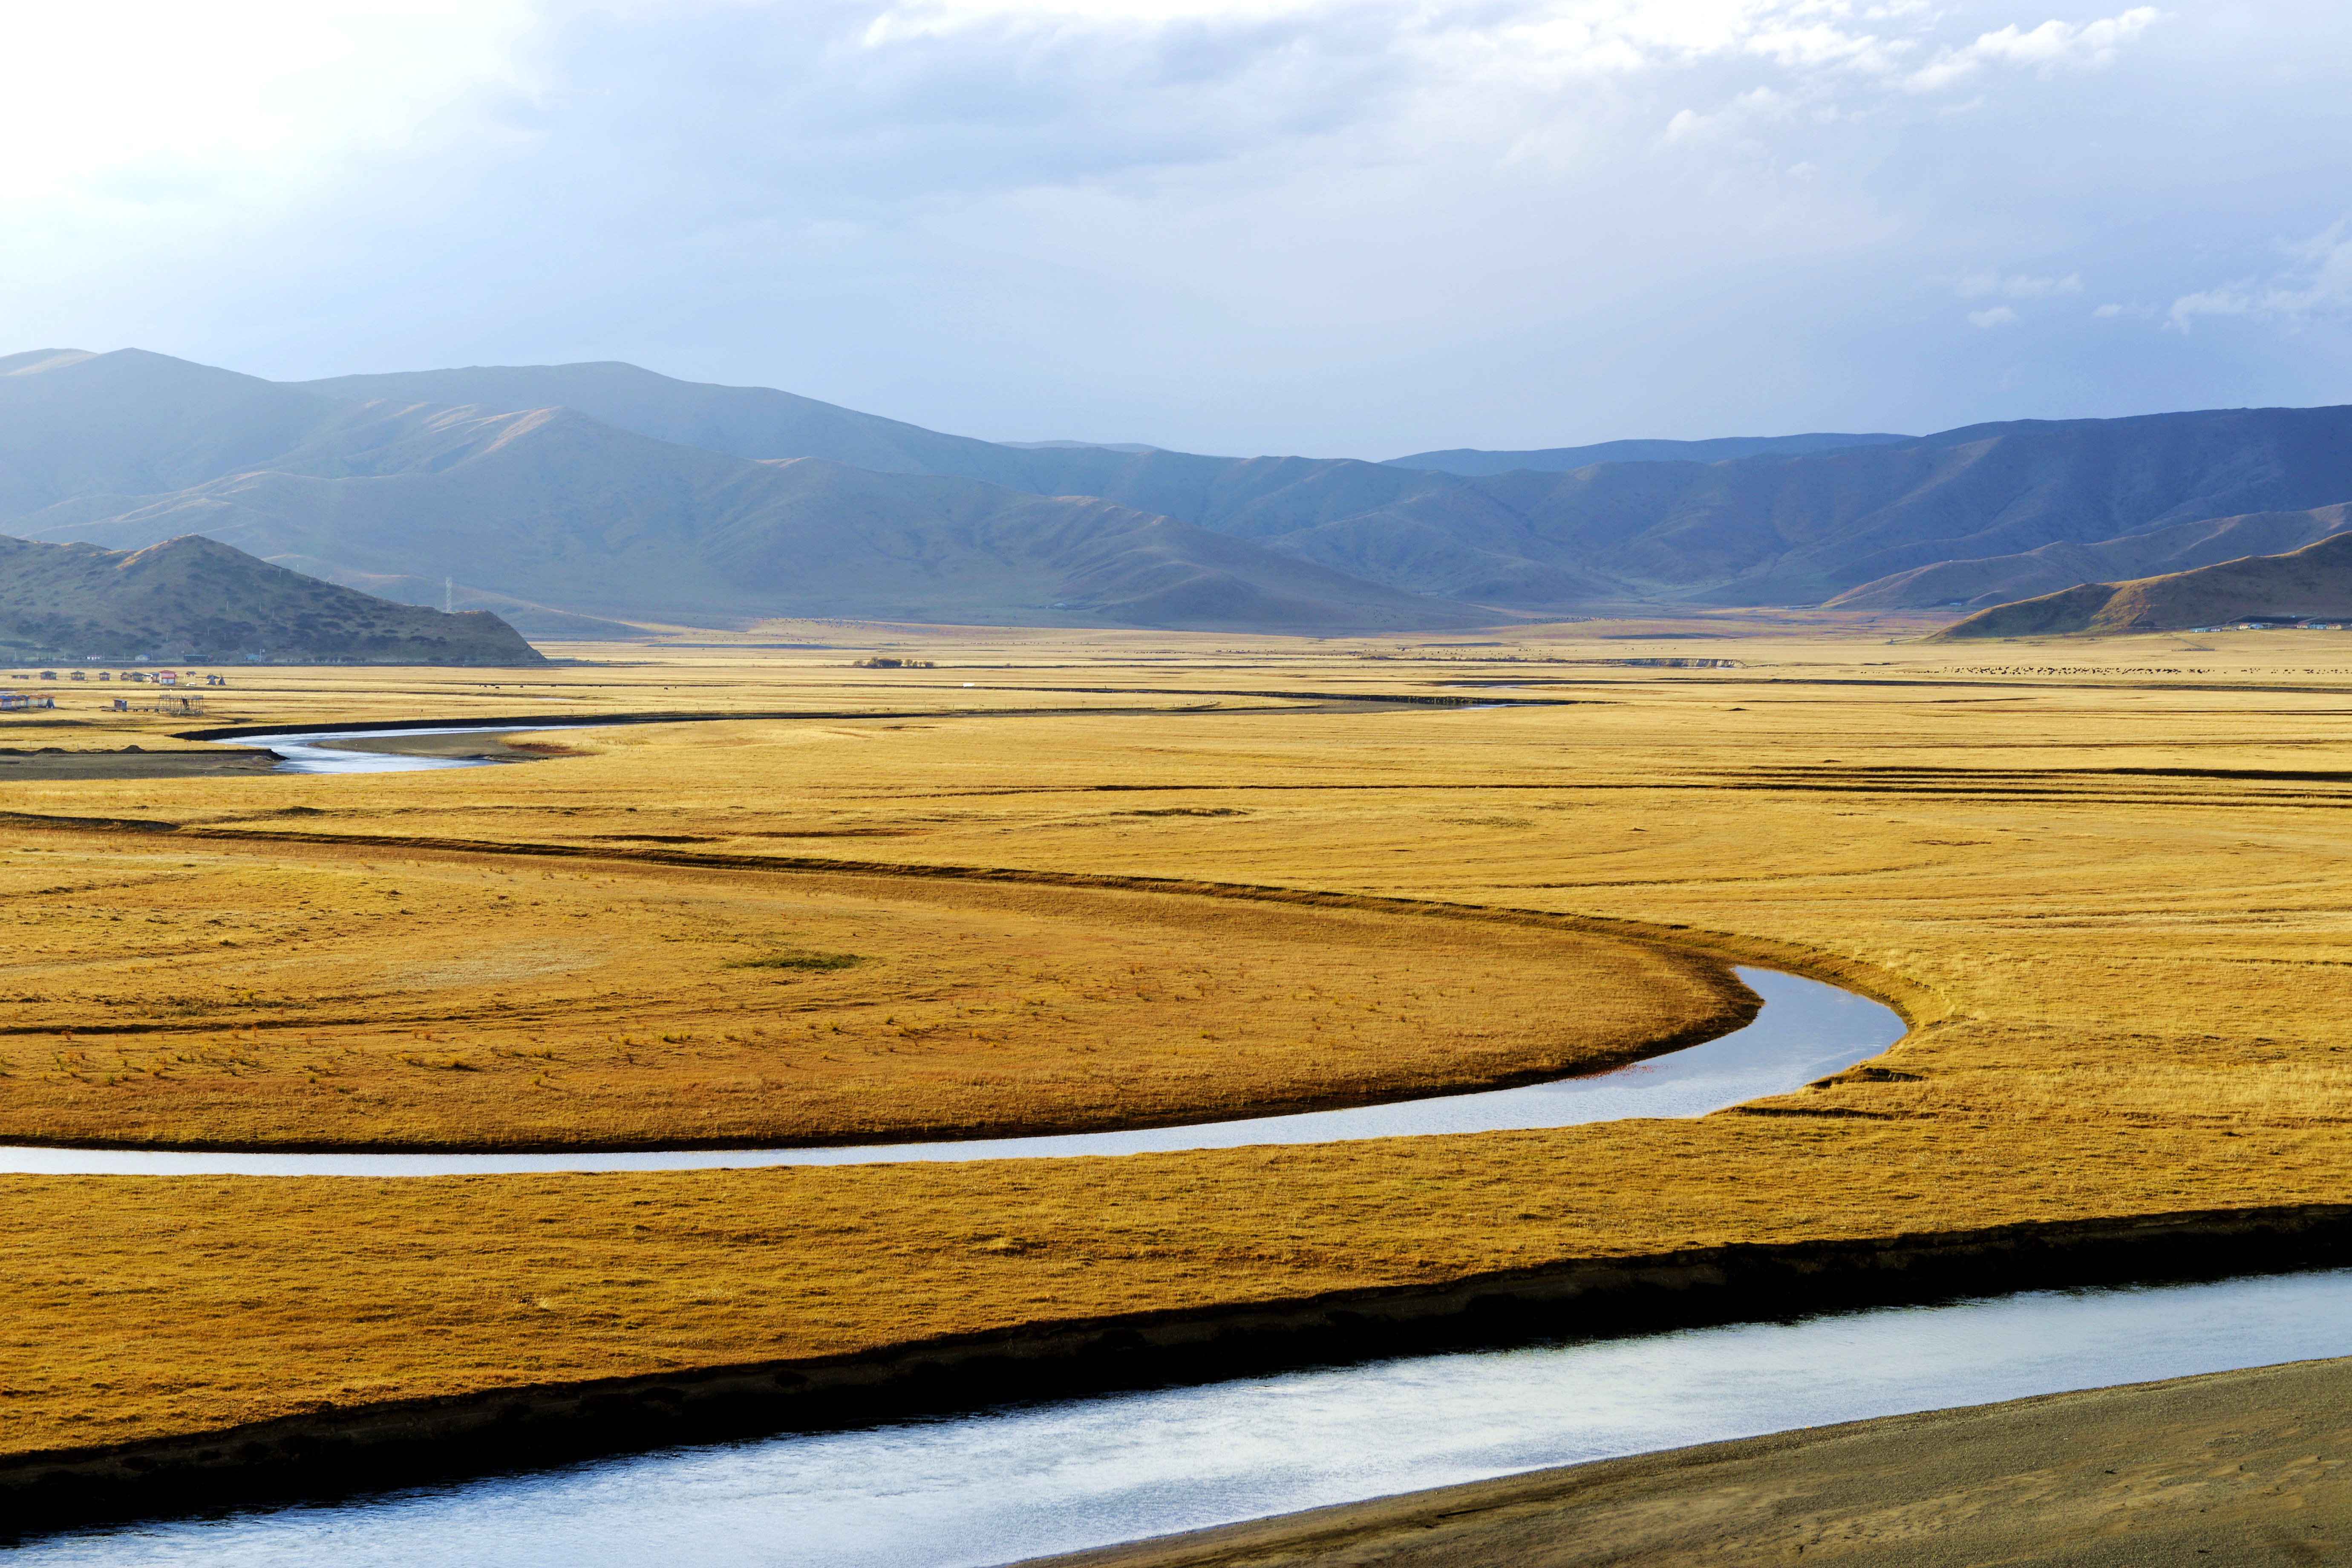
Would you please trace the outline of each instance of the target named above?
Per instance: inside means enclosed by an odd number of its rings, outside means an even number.
[[[2343,1204],[1609,1255],[1418,1288],[1033,1321],[830,1356],[548,1380],[426,1401],[329,1401],[209,1432],[0,1455],[0,1500],[14,1528],[54,1530],[1284,1366],[1792,1319],[1952,1300],[1987,1286],[2218,1279],[2345,1260],[2352,1206]]]

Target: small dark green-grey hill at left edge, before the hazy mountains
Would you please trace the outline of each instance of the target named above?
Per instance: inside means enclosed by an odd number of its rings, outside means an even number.
[[[487,611],[388,604],[193,534],[146,550],[0,538],[0,649],[19,663],[546,663]]]

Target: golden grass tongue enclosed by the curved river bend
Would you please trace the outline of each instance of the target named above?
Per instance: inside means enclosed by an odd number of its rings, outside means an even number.
[[[1752,1009],[1675,950],[1376,910],[153,837],[0,858],[0,1140],[1087,1131],[1557,1077]]]

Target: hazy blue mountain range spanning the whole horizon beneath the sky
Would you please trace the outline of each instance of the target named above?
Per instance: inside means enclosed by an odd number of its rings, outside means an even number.
[[[1364,463],[1009,447],[628,364],[280,386],[139,350],[0,360],[0,524],[113,548],[202,531],[412,599],[449,576],[539,635],[1917,609],[2307,543],[2345,501],[2345,407]]]

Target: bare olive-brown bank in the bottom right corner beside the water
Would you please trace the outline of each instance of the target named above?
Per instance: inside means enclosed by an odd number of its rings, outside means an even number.
[[[1023,1568],[2216,1568],[2352,1554],[2352,1359],[1541,1469]]]

